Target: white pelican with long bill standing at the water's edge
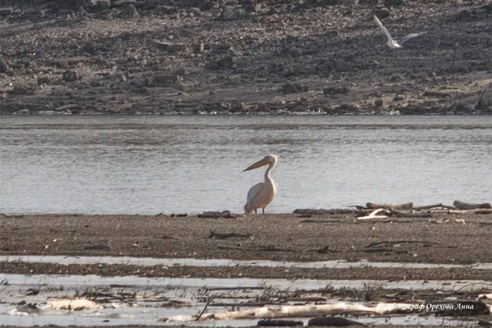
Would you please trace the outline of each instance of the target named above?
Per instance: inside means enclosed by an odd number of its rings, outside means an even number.
[[[277,163],[277,155],[267,155],[262,160],[257,161],[253,165],[245,168],[244,171],[253,170],[264,165],[268,165],[267,171],[265,171],[265,182],[256,183],[251,187],[248,192],[248,200],[244,205],[244,216],[248,216],[253,211],[261,208],[263,214],[265,214],[265,208],[270,204],[277,193],[277,183],[275,183],[270,176],[270,172]]]

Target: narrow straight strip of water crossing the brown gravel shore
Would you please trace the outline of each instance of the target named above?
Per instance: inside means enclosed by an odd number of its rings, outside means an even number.
[[[11,255],[0,256],[0,261],[23,261],[28,263],[58,264],[125,264],[150,267],[153,265],[187,265],[190,267],[269,267],[269,268],[304,268],[304,269],[345,269],[345,268],[405,268],[405,269],[474,269],[492,270],[492,263],[475,264],[433,264],[433,263],[398,263],[398,262],[279,262],[268,260],[232,260],[232,259],[196,259],[196,258],[151,258],[128,256],[35,256]]]

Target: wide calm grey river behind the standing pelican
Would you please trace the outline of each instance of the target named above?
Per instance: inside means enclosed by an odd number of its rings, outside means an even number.
[[[279,155],[267,209],[491,201],[489,116],[0,118],[0,212],[241,212]]]

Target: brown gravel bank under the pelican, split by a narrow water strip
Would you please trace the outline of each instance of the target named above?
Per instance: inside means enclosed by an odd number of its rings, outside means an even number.
[[[473,264],[492,262],[489,215],[433,214],[432,218],[358,221],[353,214],[258,215],[247,219],[114,215],[2,217],[0,255],[227,258],[275,261],[369,260]],[[235,233],[221,239],[214,233]],[[243,236],[244,235],[244,236]],[[487,270],[138,268],[3,262],[4,273],[319,279],[490,279]]]

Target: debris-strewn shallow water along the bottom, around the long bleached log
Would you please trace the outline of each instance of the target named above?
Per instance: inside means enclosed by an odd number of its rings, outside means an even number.
[[[208,313],[245,310],[260,305],[347,301],[323,291],[400,289],[477,291],[491,289],[486,281],[378,281],[378,280],[286,280],[252,278],[146,278],[137,276],[99,277],[95,275],[0,275],[0,322],[9,325],[187,325],[187,326],[255,326],[258,319],[164,322],[163,318],[197,315],[207,299],[214,296]],[[386,293],[386,292],[384,292]],[[389,291],[388,291],[389,293]],[[329,295],[329,296],[326,296]],[[332,296],[330,296],[332,295]],[[436,294],[437,295],[437,294]],[[17,304],[44,303],[73,297],[96,301],[98,309],[84,311],[42,310],[30,314],[17,311]],[[295,296],[295,297],[292,297]],[[260,301],[259,301],[260,300]],[[350,301],[350,300],[348,300]],[[261,303],[261,304],[259,304]],[[295,318],[290,318],[295,319]],[[309,318],[302,318],[304,323]],[[412,316],[378,316],[353,318],[367,324],[419,324],[428,326],[463,325],[463,320]],[[469,322],[470,325],[473,322]]]

